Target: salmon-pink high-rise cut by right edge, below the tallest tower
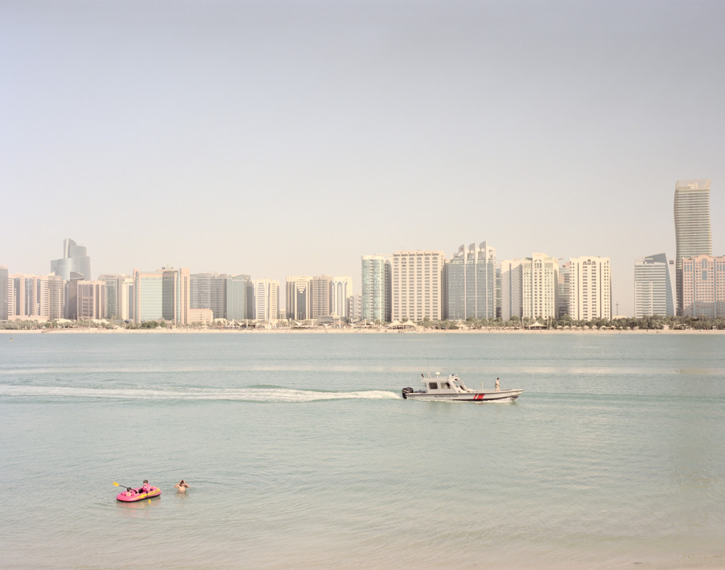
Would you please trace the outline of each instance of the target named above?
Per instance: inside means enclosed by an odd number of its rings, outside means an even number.
[[[688,317],[725,317],[725,255],[682,260],[682,302]]]

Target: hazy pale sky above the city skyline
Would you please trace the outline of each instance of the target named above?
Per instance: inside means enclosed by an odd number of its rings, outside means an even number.
[[[725,255],[725,2],[0,0],[0,265],[351,276],[674,259],[676,181]]]

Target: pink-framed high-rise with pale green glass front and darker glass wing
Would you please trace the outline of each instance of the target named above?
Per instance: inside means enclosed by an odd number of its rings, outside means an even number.
[[[186,268],[157,271],[133,270],[133,321],[188,324],[191,275]]]

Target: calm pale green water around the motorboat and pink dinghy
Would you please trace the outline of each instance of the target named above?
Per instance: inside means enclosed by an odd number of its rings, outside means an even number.
[[[723,568],[725,335],[2,334],[0,481],[4,568]]]

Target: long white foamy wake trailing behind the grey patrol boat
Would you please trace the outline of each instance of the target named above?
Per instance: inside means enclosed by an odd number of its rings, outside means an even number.
[[[387,390],[327,392],[282,387],[162,388],[51,387],[0,385],[0,396],[26,398],[114,398],[117,400],[235,400],[239,402],[318,402],[320,400],[399,400]]]

